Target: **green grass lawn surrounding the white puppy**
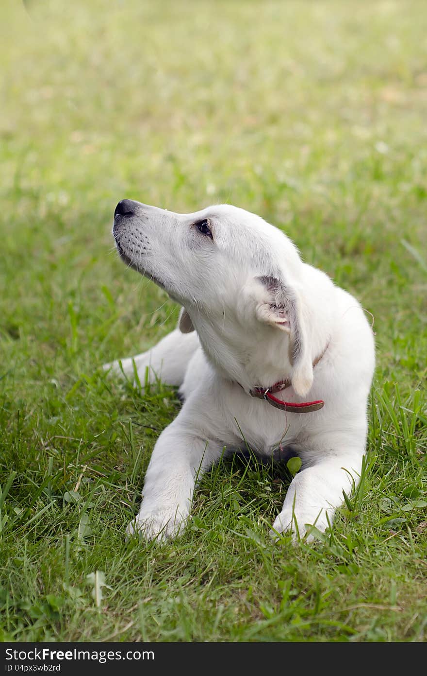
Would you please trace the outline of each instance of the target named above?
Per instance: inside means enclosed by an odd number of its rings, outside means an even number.
[[[25,7],[0,22],[0,636],[425,639],[424,1]],[[125,543],[179,402],[100,369],[177,320],[112,252],[122,197],[254,211],[374,316],[364,482],[316,543],[271,543],[290,477],[255,458],[177,541]]]

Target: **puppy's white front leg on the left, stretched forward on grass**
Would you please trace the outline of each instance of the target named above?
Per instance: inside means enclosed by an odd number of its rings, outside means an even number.
[[[127,535],[149,540],[175,537],[190,514],[196,479],[221,458],[222,445],[206,441],[202,433],[199,436],[194,420],[180,420],[181,414],[154,446],[140,511],[128,525]]]

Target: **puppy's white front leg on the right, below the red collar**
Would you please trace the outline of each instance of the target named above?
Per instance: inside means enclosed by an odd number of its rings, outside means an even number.
[[[308,464],[293,480],[283,510],[275,519],[271,535],[291,531],[295,537],[310,536],[310,525],[324,531],[333,521],[335,510],[343,504],[343,491],[349,495],[360,481],[363,446],[346,452],[309,454]],[[306,458],[307,464],[307,458]]]

